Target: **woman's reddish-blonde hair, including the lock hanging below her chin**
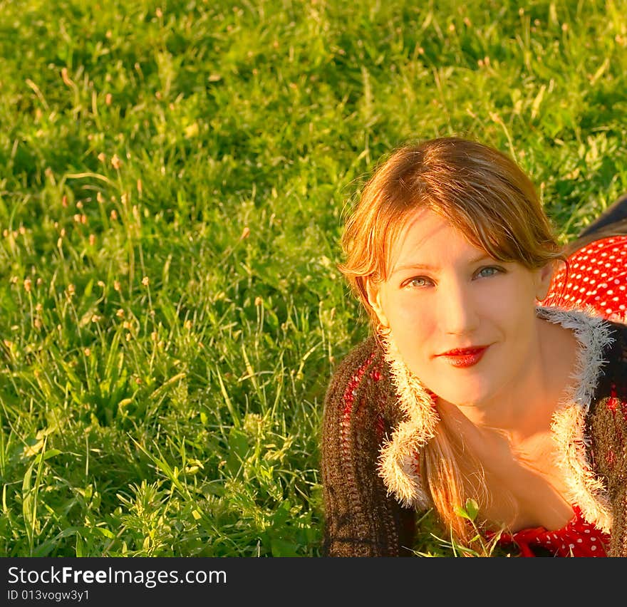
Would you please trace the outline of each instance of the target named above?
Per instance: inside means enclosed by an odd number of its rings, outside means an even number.
[[[346,221],[339,269],[371,317],[368,281],[384,281],[390,249],[416,209],[445,217],[467,240],[504,262],[539,269],[564,259],[554,229],[532,181],[512,158],[481,143],[462,138],[437,138],[395,150],[363,187]],[[425,489],[447,526],[461,541],[469,539],[465,519],[455,513],[465,504],[462,469],[482,474],[476,458],[452,431],[452,420],[440,411],[435,437],[421,452]],[[477,482],[473,483],[477,486]],[[480,499],[487,492],[483,487]]]

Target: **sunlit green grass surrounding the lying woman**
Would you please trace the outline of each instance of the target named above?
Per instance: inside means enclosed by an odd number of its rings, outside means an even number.
[[[564,242],[627,190],[622,0],[0,14],[6,556],[318,556],[323,395],[368,332],[338,238],[380,157],[494,145]]]

